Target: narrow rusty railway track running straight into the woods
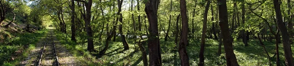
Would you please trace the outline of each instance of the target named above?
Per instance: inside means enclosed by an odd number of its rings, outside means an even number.
[[[37,66],[59,66],[52,30],[46,36]]]

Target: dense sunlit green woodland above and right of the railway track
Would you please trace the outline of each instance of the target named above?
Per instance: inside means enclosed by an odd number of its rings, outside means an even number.
[[[293,6],[294,0],[0,0],[0,25],[54,27],[77,56],[93,58],[89,65],[294,66]]]

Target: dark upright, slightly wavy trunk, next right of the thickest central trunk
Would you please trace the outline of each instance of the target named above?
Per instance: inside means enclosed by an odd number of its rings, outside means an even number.
[[[182,32],[181,39],[179,43],[179,54],[181,59],[181,66],[189,66],[189,58],[187,54],[186,47],[188,45],[188,17],[187,17],[187,8],[186,0],[180,0],[180,11],[182,16]]]

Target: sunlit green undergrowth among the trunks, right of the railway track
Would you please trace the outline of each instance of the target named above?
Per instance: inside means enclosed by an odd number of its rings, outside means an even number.
[[[57,33],[55,33],[57,34]],[[70,35],[68,37],[68,43],[64,41],[65,34],[58,33],[59,40],[70,49],[75,57],[78,57],[80,61],[85,62],[84,65],[101,65],[101,66],[143,66],[143,61],[141,58],[141,52],[138,51],[138,45],[134,44],[135,41],[133,39],[126,39],[130,49],[123,51],[123,44],[120,42],[121,37],[117,36],[116,42],[110,41],[109,49],[106,51],[106,54],[102,57],[98,56],[98,52],[88,52],[86,41],[82,41],[80,38],[77,38],[77,42],[79,44],[75,44],[70,42]],[[105,38],[102,36],[102,38]],[[146,39],[145,39],[146,40]],[[105,40],[94,39],[95,41],[95,49],[100,51],[104,48]],[[98,43],[101,41],[101,43]],[[82,44],[84,47],[82,47]],[[234,53],[236,54],[236,58],[238,59],[238,63],[240,66],[269,66],[269,61],[267,55],[262,46],[258,45],[256,41],[250,40],[249,46],[244,46],[242,41],[234,41]],[[273,42],[264,41],[266,45],[266,49],[270,52],[270,56],[272,57],[275,53],[275,44]],[[144,44],[147,50],[147,44]],[[173,39],[169,39],[169,41],[165,42],[163,37],[160,37],[160,45],[161,45],[161,55],[163,66],[180,66],[180,59],[177,51],[173,51],[175,48],[175,44]],[[219,42],[212,39],[206,39],[205,44],[205,66],[225,66],[226,59],[224,53],[224,47],[222,46],[222,54],[221,56],[217,56]],[[281,65],[285,66],[285,58],[283,45],[279,45],[280,52],[280,61]],[[136,48],[136,49],[135,49]],[[293,45],[292,45],[292,48]],[[199,51],[200,51],[200,40],[198,39],[190,39],[189,45],[187,46],[187,53],[189,56],[189,62],[191,66],[197,66],[199,63]],[[294,50],[292,50],[294,51]],[[147,50],[148,53],[148,50]],[[174,56],[176,54],[176,56]],[[147,55],[148,57],[148,55]],[[148,58],[147,58],[148,59]],[[271,64],[275,66],[275,59],[271,58]],[[110,62],[113,62],[111,64]]]

